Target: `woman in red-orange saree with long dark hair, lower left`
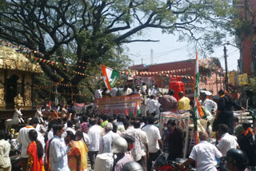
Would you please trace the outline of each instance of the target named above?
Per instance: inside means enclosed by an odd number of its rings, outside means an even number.
[[[27,155],[29,156],[26,171],[44,171],[42,162],[43,149],[42,144],[38,141],[38,133],[35,129],[29,132],[30,145],[27,148]]]

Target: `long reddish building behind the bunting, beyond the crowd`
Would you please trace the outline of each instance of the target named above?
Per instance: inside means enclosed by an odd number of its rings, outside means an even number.
[[[210,62],[208,60],[205,60],[206,62]],[[202,62],[203,63],[203,62]],[[200,64],[199,60],[199,67],[202,64]],[[130,70],[136,70],[138,68],[137,66],[130,67]],[[169,62],[169,63],[162,63],[157,65],[148,66],[143,70],[140,68],[139,71],[148,71],[148,72],[158,72],[158,71],[167,71],[167,70],[176,70],[178,72],[169,74],[172,78],[177,78],[179,76],[182,76],[182,78],[186,77],[185,82],[185,89],[188,96],[194,96],[193,93],[193,85],[194,85],[194,68],[195,68],[195,60],[186,60],[186,61],[180,61],[180,62]],[[184,70],[186,69],[186,70]],[[217,75],[216,75],[217,73]],[[154,77],[154,81],[158,85],[159,88],[169,88],[169,82],[170,77],[166,77],[164,75],[154,74],[154,75],[142,75],[142,77]],[[141,76],[141,75],[140,75]],[[174,77],[176,76],[176,77]],[[222,69],[218,68],[216,71],[210,72],[210,74],[207,72],[200,72],[200,89],[206,89],[214,93],[214,95],[217,95],[218,91],[220,89],[224,89],[224,77],[222,74]]]

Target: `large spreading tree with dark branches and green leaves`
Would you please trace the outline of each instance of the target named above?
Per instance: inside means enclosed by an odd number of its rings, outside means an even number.
[[[0,38],[38,50],[40,58],[81,66],[72,70],[90,75],[101,63],[121,64],[126,43],[157,41],[136,38],[146,28],[178,32],[211,51],[229,21],[228,0],[6,0]],[[40,65],[54,82],[78,85],[85,78],[63,70],[68,66]]]

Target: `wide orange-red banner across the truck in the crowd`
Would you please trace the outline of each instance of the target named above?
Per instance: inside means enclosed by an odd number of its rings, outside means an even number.
[[[98,105],[98,111],[100,114],[126,115],[126,109],[128,113],[134,114],[137,107],[136,104],[140,105],[140,95],[133,94],[128,96],[96,98],[95,103]]]

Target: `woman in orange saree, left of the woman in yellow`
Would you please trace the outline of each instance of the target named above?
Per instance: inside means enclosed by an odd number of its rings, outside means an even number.
[[[70,144],[70,151],[67,153],[70,171],[82,171],[81,154],[82,150],[78,141],[75,141],[75,135],[71,131],[66,131],[66,145]]]

